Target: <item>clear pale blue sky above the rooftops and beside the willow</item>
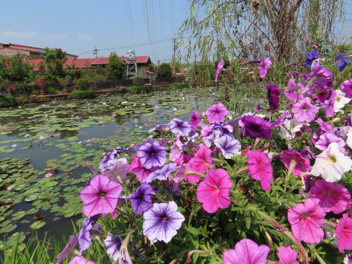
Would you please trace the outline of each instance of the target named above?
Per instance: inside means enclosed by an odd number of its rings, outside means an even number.
[[[95,47],[99,57],[133,49],[155,64],[170,61],[171,38],[188,16],[187,0],[12,0],[3,7],[0,43],[61,48],[80,58],[95,57]],[[335,24],[340,38],[351,36],[351,0],[345,12],[347,22]]]

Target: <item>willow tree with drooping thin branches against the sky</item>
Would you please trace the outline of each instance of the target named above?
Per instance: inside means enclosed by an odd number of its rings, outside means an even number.
[[[343,0],[190,0],[180,42],[189,59],[230,54],[289,61],[318,39],[334,40]]]

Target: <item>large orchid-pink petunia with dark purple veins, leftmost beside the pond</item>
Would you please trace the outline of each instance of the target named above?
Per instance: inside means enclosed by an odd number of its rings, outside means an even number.
[[[110,181],[109,177],[96,175],[89,186],[80,191],[80,199],[83,202],[82,212],[86,216],[97,214],[109,214],[117,205],[117,200],[122,192],[122,185]]]

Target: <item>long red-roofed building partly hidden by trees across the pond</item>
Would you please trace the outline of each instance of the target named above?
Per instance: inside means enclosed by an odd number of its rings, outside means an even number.
[[[151,63],[149,56],[136,56],[135,61],[129,61],[127,57],[119,57],[126,65],[126,69],[129,70],[130,76],[142,76],[148,78],[147,67]],[[42,62],[42,59],[27,60],[29,63],[34,64],[34,71],[38,71],[38,65]],[[68,58],[64,67],[70,67],[73,69],[79,69],[84,67],[95,68],[101,66],[102,68],[107,68],[109,63],[109,57],[100,58]]]

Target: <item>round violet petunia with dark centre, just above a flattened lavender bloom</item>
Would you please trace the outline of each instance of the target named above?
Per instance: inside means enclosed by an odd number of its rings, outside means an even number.
[[[166,162],[166,148],[161,147],[157,142],[145,143],[139,148],[137,155],[140,157],[140,163],[145,168],[162,166]]]

